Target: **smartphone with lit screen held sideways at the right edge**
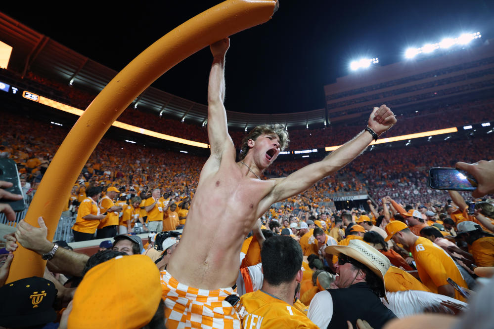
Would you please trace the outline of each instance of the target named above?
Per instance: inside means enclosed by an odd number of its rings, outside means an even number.
[[[435,167],[429,170],[429,186],[436,190],[473,191],[477,181],[465,171]]]

